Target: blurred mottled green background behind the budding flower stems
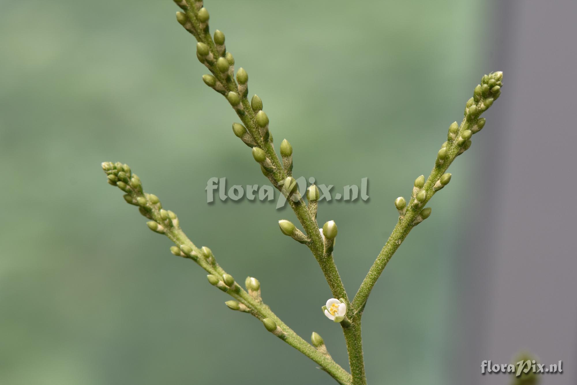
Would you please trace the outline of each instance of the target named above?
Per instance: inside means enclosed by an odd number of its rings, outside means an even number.
[[[396,222],[392,204],[428,174],[448,125],[486,68],[482,2],[210,1],[249,73],[295,176],[342,187],[369,178],[368,202],[321,203],[339,226],[335,260],[355,294]],[[210,177],[264,184],[238,121],[204,86],[194,39],[170,0],[6,2],[0,13],[0,383],[331,384],[313,362],[224,306],[205,273],[106,183],[102,161],[129,164],[198,246],[295,331],[319,332],[347,367],[330,297],[274,203],[206,202]],[[473,17],[474,15],[474,17]],[[486,32],[489,33],[489,32]],[[445,384],[459,309],[456,210],[479,147],[451,167],[375,287],[364,317],[372,384]],[[274,250],[274,251],[272,251]],[[514,353],[514,352],[511,352]]]

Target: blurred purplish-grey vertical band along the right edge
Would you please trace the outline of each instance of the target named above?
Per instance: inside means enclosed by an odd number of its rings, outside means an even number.
[[[504,97],[475,140],[493,150],[479,155],[483,194],[463,227],[456,383],[508,384],[481,376],[482,360],[507,363],[526,350],[545,364],[563,360],[563,375],[543,384],[575,384],[577,2],[494,2],[493,12],[490,64],[504,71]]]

